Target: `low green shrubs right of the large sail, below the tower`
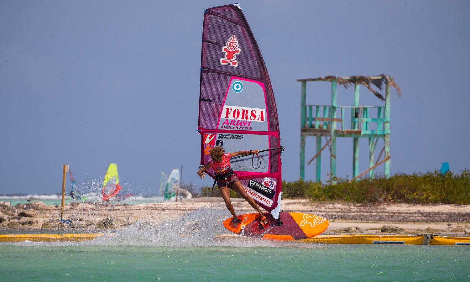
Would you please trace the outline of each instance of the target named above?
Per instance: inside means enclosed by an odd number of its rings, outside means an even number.
[[[399,173],[369,180],[337,178],[336,184],[311,180],[282,181],[283,198],[311,198],[315,201],[340,200],[353,203],[397,202],[418,204],[470,204],[470,172],[460,174],[439,171],[427,173]]]

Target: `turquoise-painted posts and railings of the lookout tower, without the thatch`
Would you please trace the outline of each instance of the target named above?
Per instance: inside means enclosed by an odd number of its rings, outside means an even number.
[[[380,77],[377,77],[379,79]],[[345,78],[354,79],[354,78]],[[374,164],[374,152],[377,144],[377,138],[384,138],[385,142],[385,157],[390,156],[390,85],[385,83],[385,105],[384,106],[360,106],[359,102],[359,90],[360,86],[354,86],[354,105],[353,106],[338,106],[337,105],[337,77],[329,79],[331,82],[331,105],[305,105],[306,95],[306,81],[312,81],[309,79],[299,79],[302,81],[302,97],[301,97],[301,123],[302,127],[317,128],[317,129],[328,129],[331,135],[331,154],[330,154],[330,178],[334,180],[336,178],[336,137],[349,137],[353,138],[353,177],[359,175],[359,139],[369,139],[369,167]],[[308,108],[307,108],[308,106]],[[313,106],[315,107],[315,113],[313,114]],[[323,114],[320,113],[323,108]],[[351,111],[351,127],[346,128],[344,108],[350,108]],[[373,108],[377,108],[377,116],[372,112]],[[308,112],[307,112],[308,110]],[[337,122],[333,122],[331,119],[337,118],[337,111],[341,110],[341,129],[336,130],[338,125]],[[326,120],[317,120],[317,118],[328,118]],[[331,119],[330,119],[331,118]],[[307,126],[305,126],[307,125]],[[359,133],[347,133],[349,129],[357,130]],[[316,134],[316,145],[317,150],[321,149],[321,134],[324,131],[315,132],[314,130],[303,130],[301,131],[301,178],[305,179],[305,138],[306,136],[315,136]],[[349,131],[351,132],[351,131]],[[303,134],[303,135],[302,135]],[[303,137],[302,137],[303,136]],[[374,139],[376,139],[374,141]],[[385,163],[385,175],[390,176],[390,160]],[[374,169],[369,171],[369,177],[373,177]],[[316,176],[317,181],[321,180],[321,154],[317,157],[316,162]]]

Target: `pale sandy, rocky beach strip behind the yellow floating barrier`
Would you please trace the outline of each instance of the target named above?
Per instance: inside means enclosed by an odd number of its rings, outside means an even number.
[[[241,199],[232,199],[232,204],[238,214],[254,212],[249,204]],[[470,236],[468,235],[470,205],[340,204],[285,199],[282,201],[282,208],[283,211],[305,212],[326,217],[329,219],[329,227],[325,233],[328,234],[432,233]],[[230,216],[222,198],[218,197],[135,205],[72,203],[65,205],[63,219],[70,220],[70,225],[64,225],[58,220],[60,207],[42,202],[21,206],[0,202],[0,229],[5,234],[7,230],[16,229],[125,228],[136,221],[144,225],[160,224],[205,209],[217,210],[221,220]]]

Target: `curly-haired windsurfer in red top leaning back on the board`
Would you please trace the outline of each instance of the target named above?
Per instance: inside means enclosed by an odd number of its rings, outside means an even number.
[[[237,217],[235,210],[230,202],[230,191],[228,190],[229,188],[240,194],[243,199],[245,199],[256,211],[258,211],[259,215],[261,216],[259,223],[261,226],[264,227],[265,224],[268,223],[267,217],[261,212],[255,200],[248,196],[245,189],[243,188],[242,182],[240,182],[240,180],[230,167],[231,157],[247,154],[258,154],[258,150],[226,153],[222,147],[217,146],[211,149],[210,154],[212,160],[206,165],[204,165],[204,167],[197,172],[197,175],[199,175],[201,179],[204,179],[204,172],[206,172],[212,167],[217,180],[217,186],[219,187],[220,194],[224,199],[225,206],[227,207],[228,211],[230,211],[230,213],[233,215],[232,222],[235,224],[235,226],[238,222],[241,222],[241,220]]]

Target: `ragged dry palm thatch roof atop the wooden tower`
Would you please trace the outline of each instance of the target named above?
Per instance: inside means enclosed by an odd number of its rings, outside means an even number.
[[[356,84],[362,84],[363,86],[366,86],[367,89],[369,89],[382,101],[385,100],[384,96],[382,96],[382,94],[375,91],[372,88],[371,84],[375,85],[377,88],[382,90],[382,87],[384,86],[385,81],[387,81],[390,86],[397,89],[398,95],[401,96],[401,89],[395,83],[395,79],[392,76],[388,76],[384,74],[371,76],[371,77],[362,76],[362,75],[356,75],[356,76],[350,76],[350,77],[335,77],[335,76],[329,75],[326,77],[319,77],[319,78],[297,79],[297,81],[332,81],[335,78],[336,78],[336,83],[345,86],[345,88],[348,88],[349,86],[356,85]]]

